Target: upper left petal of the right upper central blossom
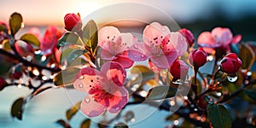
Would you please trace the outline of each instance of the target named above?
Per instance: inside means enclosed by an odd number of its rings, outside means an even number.
[[[151,41],[153,41],[155,45],[160,45],[160,39],[166,37],[169,33],[171,32],[167,26],[162,26],[158,22],[153,22],[145,27],[143,31],[143,41],[148,45],[151,44]],[[154,41],[157,41],[157,43]]]

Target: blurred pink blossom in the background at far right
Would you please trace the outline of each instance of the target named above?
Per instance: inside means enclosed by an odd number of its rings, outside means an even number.
[[[216,27],[212,32],[202,32],[198,37],[198,45],[204,48],[207,53],[212,53],[212,49],[223,48],[230,50],[230,44],[237,44],[241,40],[241,35],[233,34],[229,28]]]

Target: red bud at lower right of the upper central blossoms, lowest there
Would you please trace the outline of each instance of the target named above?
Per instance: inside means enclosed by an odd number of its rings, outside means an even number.
[[[184,61],[176,60],[170,67],[170,72],[173,79],[185,79],[189,72],[189,66]]]

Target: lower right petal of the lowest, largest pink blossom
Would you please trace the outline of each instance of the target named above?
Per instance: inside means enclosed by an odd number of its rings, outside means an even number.
[[[124,108],[126,103],[129,101],[129,93],[125,87],[115,87],[118,89],[111,93],[113,94],[113,98],[109,99],[109,107],[107,108],[109,113],[119,113],[119,111]]]

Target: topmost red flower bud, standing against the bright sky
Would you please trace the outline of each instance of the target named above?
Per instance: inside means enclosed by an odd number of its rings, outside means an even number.
[[[67,31],[79,30],[82,27],[82,21],[79,15],[67,14],[64,17],[65,28]]]

